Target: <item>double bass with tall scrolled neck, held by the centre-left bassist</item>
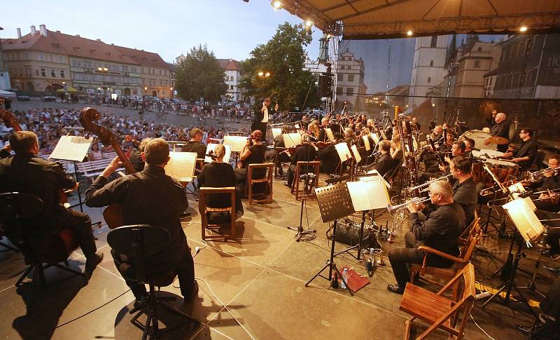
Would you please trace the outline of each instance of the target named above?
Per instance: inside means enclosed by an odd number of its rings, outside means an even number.
[[[125,168],[127,175],[133,174],[136,170],[134,170],[134,167],[128,160],[123,149],[120,148],[118,140],[115,139],[113,133],[111,133],[109,129],[93,123],[93,121],[97,121],[99,118],[101,118],[99,111],[92,109],[91,107],[85,107],[82,111],[80,111],[80,123],[83,128],[88,132],[97,135],[104,146],[111,145],[111,147],[113,147],[116,151],[118,158],[120,158],[120,162],[123,163],[123,167]],[[123,226],[123,206],[119,203],[112,203],[103,211],[103,218],[105,219],[107,226],[109,226],[109,229],[115,229],[119,226]]]

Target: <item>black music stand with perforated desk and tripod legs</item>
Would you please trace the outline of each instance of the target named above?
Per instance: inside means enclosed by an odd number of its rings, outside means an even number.
[[[321,218],[323,222],[332,222],[332,242],[330,244],[330,257],[326,262],[325,266],[321,268],[318,273],[315,274],[311,280],[305,283],[305,287],[315,280],[317,276],[321,276],[325,280],[332,280],[332,269],[334,268],[336,273],[339,273],[337,265],[334,262],[335,259],[335,242],[337,234],[337,222],[338,219],[352,215],[354,213],[352,198],[350,197],[350,192],[345,183],[339,183],[332,186],[323,186],[322,188],[316,188],[315,193],[317,196],[317,203],[319,205],[319,210],[321,211]],[[322,275],[323,271],[328,267],[328,277]],[[335,276],[336,278],[336,276]],[[346,285],[346,290],[353,295],[353,292],[348,287],[348,283],[344,278],[342,282]]]

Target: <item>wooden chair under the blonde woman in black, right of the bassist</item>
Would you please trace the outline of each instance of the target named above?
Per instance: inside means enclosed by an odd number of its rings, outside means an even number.
[[[230,194],[231,205],[227,208],[211,208],[206,205],[207,195],[214,195],[216,193],[226,193]],[[211,188],[204,186],[198,191],[198,211],[200,212],[201,223],[202,223],[202,240],[216,239],[216,238],[235,238],[235,186],[226,186],[225,188]],[[217,223],[209,222],[209,214],[213,212],[224,212],[229,213],[229,219],[223,219],[223,221]],[[230,227],[230,235],[216,235],[216,236],[206,236],[206,229],[218,231],[222,226]]]

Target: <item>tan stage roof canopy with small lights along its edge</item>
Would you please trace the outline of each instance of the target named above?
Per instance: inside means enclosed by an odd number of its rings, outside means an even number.
[[[345,39],[451,33],[560,32],[560,0],[279,0],[325,33]],[[274,3],[274,1],[272,1]]]

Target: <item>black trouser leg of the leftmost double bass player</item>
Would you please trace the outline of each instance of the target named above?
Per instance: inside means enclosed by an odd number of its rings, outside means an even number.
[[[57,212],[49,216],[49,220],[59,229],[71,229],[74,237],[78,241],[80,248],[86,259],[93,259],[97,246],[92,232],[92,220],[88,215],[76,210],[64,209],[64,212]]]

